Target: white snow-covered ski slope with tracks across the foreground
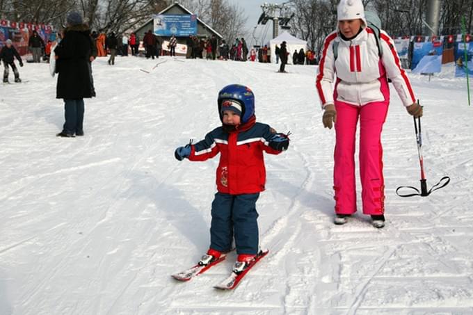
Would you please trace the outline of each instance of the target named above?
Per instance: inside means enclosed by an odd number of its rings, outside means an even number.
[[[380,230],[360,197],[350,222],[333,225],[335,134],[321,124],[316,67],[287,67],[98,58],[97,98],[74,139],[54,136],[63,102],[47,64],[20,69],[28,84],[0,86],[0,314],[473,314],[472,109],[453,66],[431,82],[410,74],[428,186],[451,177],[428,198],[395,195],[419,186],[419,162],[391,89]],[[292,135],[287,152],[265,157],[257,209],[269,255],[222,292],[212,286],[234,252],[191,282],[170,278],[207,250],[218,164],[173,154],[218,126],[217,93],[230,83],[255,92],[258,121]]]

